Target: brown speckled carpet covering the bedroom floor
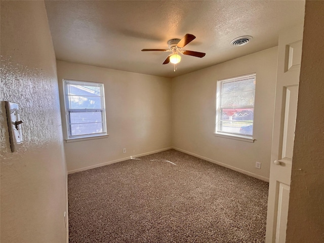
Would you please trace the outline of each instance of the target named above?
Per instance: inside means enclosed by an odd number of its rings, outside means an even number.
[[[168,150],[68,176],[69,242],[264,242],[268,183]]]

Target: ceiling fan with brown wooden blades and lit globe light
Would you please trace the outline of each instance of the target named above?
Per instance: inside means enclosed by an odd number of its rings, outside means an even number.
[[[168,41],[169,49],[142,49],[142,52],[150,52],[150,51],[158,51],[158,52],[172,52],[167,59],[164,61],[163,64],[168,64],[169,62],[173,64],[177,64],[181,60],[182,55],[189,55],[194,57],[205,57],[206,53],[203,52],[194,52],[194,51],[187,51],[182,50],[187,44],[193,41],[196,36],[193,34],[185,34],[182,39],[170,39]]]

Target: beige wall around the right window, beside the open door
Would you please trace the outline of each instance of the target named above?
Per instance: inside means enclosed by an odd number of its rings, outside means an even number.
[[[268,180],[277,47],[173,78],[173,146],[233,170]],[[214,135],[218,79],[257,73],[254,143]],[[261,170],[255,168],[262,163]]]

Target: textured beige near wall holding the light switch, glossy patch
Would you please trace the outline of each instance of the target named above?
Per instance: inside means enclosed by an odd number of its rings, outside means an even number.
[[[66,166],[56,63],[43,1],[1,1],[1,242],[66,242]],[[18,103],[12,153],[5,104]]]

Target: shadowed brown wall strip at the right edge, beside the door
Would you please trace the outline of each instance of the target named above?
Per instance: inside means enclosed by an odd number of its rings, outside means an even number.
[[[323,13],[306,1],[286,242],[324,242]]]

